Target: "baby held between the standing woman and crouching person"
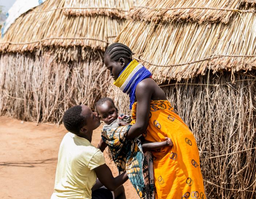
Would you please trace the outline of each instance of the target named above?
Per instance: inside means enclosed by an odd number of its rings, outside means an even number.
[[[132,121],[131,116],[120,114],[118,115],[118,110],[111,98],[105,97],[97,101],[95,105],[95,109],[97,113],[99,114],[101,120],[105,122],[105,125],[103,126],[103,129],[107,128],[116,128],[119,126],[126,126],[129,125],[129,123]],[[141,133],[142,134],[142,133]],[[157,150],[165,146],[173,146],[173,143],[170,138],[165,137],[166,141],[163,142],[149,142],[144,139],[143,136],[140,136],[141,146],[143,149],[143,152],[149,150]],[[99,149],[103,151],[106,145],[102,143],[102,141],[99,143]]]

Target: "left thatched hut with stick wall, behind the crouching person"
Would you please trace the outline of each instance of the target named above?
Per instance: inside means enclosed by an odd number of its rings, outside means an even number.
[[[72,105],[93,108],[109,85],[104,50],[132,5],[44,0],[19,16],[0,39],[0,115],[60,123]]]

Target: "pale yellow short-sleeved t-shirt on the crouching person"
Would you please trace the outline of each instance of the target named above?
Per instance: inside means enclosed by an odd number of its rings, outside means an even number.
[[[103,153],[87,139],[67,133],[60,144],[55,187],[51,199],[91,199],[94,168],[105,164]]]

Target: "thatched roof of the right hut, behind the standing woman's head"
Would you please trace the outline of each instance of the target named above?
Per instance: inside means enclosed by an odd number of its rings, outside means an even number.
[[[242,1],[221,1],[216,5],[207,1],[207,5],[216,6],[218,14],[214,9],[190,9],[193,17],[188,9],[179,9],[179,13],[175,9],[160,11],[166,4],[172,8],[191,7],[194,1],[189,1],[191,5],[188,1],[175,2],[142,1],[131,11],[132,19],[115,40],[128,45],[159,83],[203,75],[207,69],[235,72],[256,67],[256,13],[255,7],[249,6],[253,4],[241,7]],[[203,1],[197,1],[200,2],[203,6]],[[148,12],[141,8],[143,5],[157,8]],[[239,11],[218,10],[230,5]],[[213,19],[216,23],[212,23]]]

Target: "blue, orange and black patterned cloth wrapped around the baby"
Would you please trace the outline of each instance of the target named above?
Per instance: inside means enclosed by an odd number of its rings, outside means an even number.
[[[131,125],[103,127],[101,137],[107,143],[119,174],[126,171],[141,199],[154,199],[153,162],[151,152],[143,155],[139,138],[127,140]]]

